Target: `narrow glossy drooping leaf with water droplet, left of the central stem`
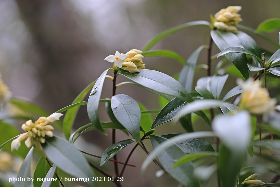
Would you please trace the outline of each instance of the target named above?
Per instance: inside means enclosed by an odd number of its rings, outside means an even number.
[[[104,131],[103,127],[101,126],[101,124],[99,122],[98,105],[99,105],[99,99],[101,97],[101,92],[102,92],[102,87],[103,87],[103,83],[105,80],[105,76],[106,76],[108,70],[105,70],[100,75],[100,77],[96,80],[96,83],[94,84],[94,86],[91,90],[91,94],[88,98],[88,103],[87,103],[87,114],[88,114],[89,119],[91,120],[92,124],[100,132],[102,132],[105,135],[107,135],[107,133]]]

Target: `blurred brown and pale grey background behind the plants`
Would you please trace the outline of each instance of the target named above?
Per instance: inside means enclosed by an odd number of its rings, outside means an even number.
[[[36,103],[53,113],[70,105],[88,84],[112,67],[104,60],[106,56],[114,55],[115,51],[141,50],[157,33],[190,21],[210,21],[210,14],[230,5],[242,6],[240,14],[243,22],[240,24],[254,29],[268,18],[280,17],[279,0],[1,0],[0,73],[14,98]],[[209,31],[207,26],[190,27],[168,36],[152,49],[174,50],[187,60],[198,46],[208,44]],[[267,35],[278,43],[278,32]],[[261,48],[270,52],[277,50],[264,39],[250,36]],[[219,52],[215,44],[213,46],[212,55]],[[175,60],[165,58],[144,58],[143,61],[147,69],[170,76],[180,72],[182,67]],[[213,61],[212,73],[217,62]],[[198,64],[206,64],[206,50],[202,51]],[[205,69],[197,71],[194,81],[202,76],[206,76]],[[227,80],[224,94],[236,85],[235,79],[230,76]],[[124,80],[119,76],[117,82]],[[112,82],[106,79],[102,98],[110,98],[111,90]],[[128,94],[148,109],[160,109],[158,96],[140,87],[122,86],[117,89],[119,93]],[[102,103],[99,114],[100,120],[108,120]],[[82,106],[74,128],[88,122],[86,106]],[[157,133],[182,131],[180,125],[170,123],[160,126]],[[110,136],[110,131],[108,134]],[[84,137],[87,142],[99,147],[100,152],[92,151],[93,154],[102,154],[111,143],[110,137],[97,131]],[[126,138],[124,133],[118,132],[117,141]],[[151,150],[149,144],[147,141]],[[130,150],[131,147],[128,147],[121,151],[119,159],[124,161]],[[129,162],[137,164],[138,168],[127,168],[124,186],[177,185],[167,175],[156,178],[155,171],[159,168],[154,165],[146,172],[145,180],[141,180],[140,166],[146,156],[140,148],[133,154]],[[111,166],[108,164],[106,167],[113,174]]]

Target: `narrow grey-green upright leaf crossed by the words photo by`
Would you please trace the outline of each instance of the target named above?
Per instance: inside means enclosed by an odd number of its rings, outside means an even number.
[[[30,151],[26,155],[21,169],[19,170],[16,178],[24,178],[25,181],[16,181],[14,187],[30,187],[31,181],[27,180],[27,177],[31,178],[31,162],[32,162],[32,154],[33,154],[34,147],[31,147]]]

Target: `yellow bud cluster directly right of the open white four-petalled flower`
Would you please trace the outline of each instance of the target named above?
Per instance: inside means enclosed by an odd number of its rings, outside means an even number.
[[[141,55],[142,51],[137,49],[132,49],[126,53],[128,55],[127,59],[123,60],[122,70],[129,71],[129,73],[139,72],[139,69],[145,69],[145,64],[142,62]]]

